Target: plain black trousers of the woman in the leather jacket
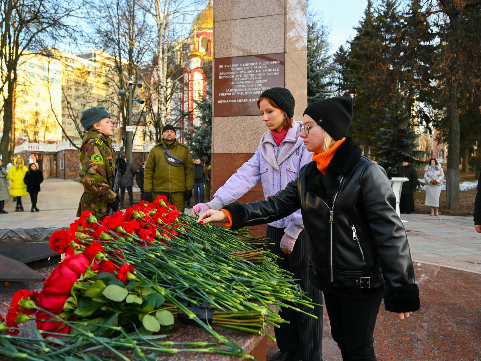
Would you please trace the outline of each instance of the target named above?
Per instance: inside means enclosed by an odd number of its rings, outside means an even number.
[[[382,295],[354,298],[325,293],[332,339],[341,350],[343,361],[376,361],[374,326]]]

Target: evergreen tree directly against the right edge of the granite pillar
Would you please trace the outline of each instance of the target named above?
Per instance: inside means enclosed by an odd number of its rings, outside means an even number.
[[[312,11],[307,20],[307,102],[331,96],[334,67],[329,55],[327,28],[316,20]]]

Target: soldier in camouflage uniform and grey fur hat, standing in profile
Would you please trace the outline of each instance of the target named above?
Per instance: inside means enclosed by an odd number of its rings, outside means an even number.
[[[115,178],[115,150],[112,148],[114,125],[104,107],[91,107],[82,112],[80,123],[87,131],[80,147],[80,183],[84,193],[80,199],[77,216],[85,210],[92,211],[98,219],[112,208],[119,209],[120,197],[113,190]],[[117,158],[119,168],[125,172],[126,163]]]

